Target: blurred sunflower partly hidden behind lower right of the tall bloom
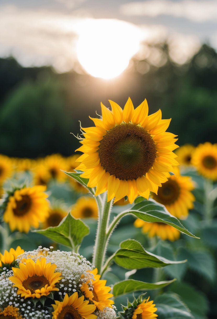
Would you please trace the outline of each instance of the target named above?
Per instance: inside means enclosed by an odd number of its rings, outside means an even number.
[[[153,194],[152,197],[163,204],[173,216],[185,219],[195,201],[191,192],[194,189],[193,182],[191,177],[181,176],[177,167],[173,167],[172,171],[175,175],[170,176],[168,181],[158,188],[157,195]]]

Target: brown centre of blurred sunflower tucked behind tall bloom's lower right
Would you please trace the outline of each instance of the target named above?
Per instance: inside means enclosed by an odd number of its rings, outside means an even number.
[[[158,188],[157,195],[154,194],[154,199],[164,205],[173,204],[179,197],[180,187],[174,180],[169,179]]]

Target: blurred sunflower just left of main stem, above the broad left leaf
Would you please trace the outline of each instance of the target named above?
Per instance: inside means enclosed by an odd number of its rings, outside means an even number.
[[[98,208],[93,197],[82,196],[73,205],[71,215],[75,218],[97,218]]]

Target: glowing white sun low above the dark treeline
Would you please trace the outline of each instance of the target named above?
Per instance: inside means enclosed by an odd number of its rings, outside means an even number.
[[[139,50],[141,31],[116,19],[86,19],[78,25],[78,60],[92,76],[115,78]]]

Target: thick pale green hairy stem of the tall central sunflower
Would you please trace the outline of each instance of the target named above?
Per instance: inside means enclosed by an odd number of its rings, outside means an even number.
[[[97,268],[98,273],[101,274],[108,243],[106,229],[110,218],[113,200],[107,202],[107,193],[105,193],[102,204],[99,199],[96,199],[96,201],[99,208],[99,216],[94,245],[93,264]]]

